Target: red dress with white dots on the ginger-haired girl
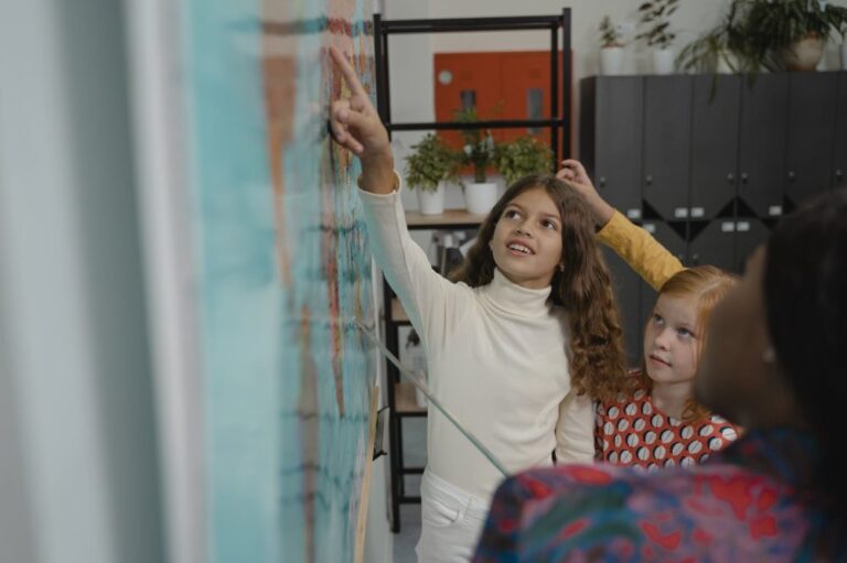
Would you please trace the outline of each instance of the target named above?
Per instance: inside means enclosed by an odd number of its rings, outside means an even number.
[[[738,429],[712,414],[690,424],[655,408],[645,391],[597,404],[598,459],[647,470],[700,464],[738,437]]]

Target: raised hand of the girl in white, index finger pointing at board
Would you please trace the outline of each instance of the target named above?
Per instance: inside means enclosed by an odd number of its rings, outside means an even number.
[[[353,152],[362,161],[363,185],[382,192],[379,185],[389,180],[393,188],[394,158],[388,131],[371,104],[364,86],[344,54],[330,46],[330,57],[351,96],[334,99],[330,107],[330,129],[337,144]]]

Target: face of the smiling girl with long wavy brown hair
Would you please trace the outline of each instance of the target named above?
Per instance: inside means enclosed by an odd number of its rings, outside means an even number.
[[[546,288],[561,262],[561,215],[543,187],[506,205],[489,242],[503,274],[524,288]]]

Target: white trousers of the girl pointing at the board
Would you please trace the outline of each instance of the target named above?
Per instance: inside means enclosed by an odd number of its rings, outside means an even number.
[[[424,472],[418,563],[465,563],[480,539],[489,504]]]

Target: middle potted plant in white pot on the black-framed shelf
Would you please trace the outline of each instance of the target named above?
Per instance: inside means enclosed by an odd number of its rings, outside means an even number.
[[[476,108],[465,108],[457,112],[461,123],[475,123],[480,120]],[[497,203],[497,184],[489,182],[489,166],[494,164],[496,145],[491,131],[484,128],[462,130],[461,163],[473,167],[473,182],[462,184],[468,213],[484,215]]]

